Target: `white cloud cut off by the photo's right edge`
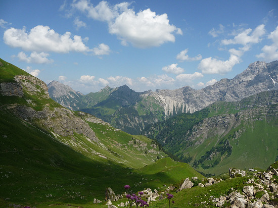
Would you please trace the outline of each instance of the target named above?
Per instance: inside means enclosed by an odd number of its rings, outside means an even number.
[[[278,26],[268,36],[268,39],[272,40],[271,45],[265,45],[262,48],[263,53],[257,55],[257,58],[262,58],[265,61],[278,60]]]

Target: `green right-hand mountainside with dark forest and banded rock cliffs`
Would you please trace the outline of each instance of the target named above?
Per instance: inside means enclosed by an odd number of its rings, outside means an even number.
[[[207,174],[219,175],[230,166],[266,169],[278,160],[278,90],[218,101],[149,125],[143,134]]]

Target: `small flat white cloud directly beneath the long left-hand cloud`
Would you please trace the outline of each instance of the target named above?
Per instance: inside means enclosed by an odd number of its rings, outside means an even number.
[[[32,52],[30,57],[28,57],[24,52],[19,52],[17,57],[19,58],[20,61],[24,61],[27,63],[36,63],[36,64],[49,64],[52,63],[53,60],[48,59],[47,57],[49,54],[41,52],[41,53],[36,53],[36,51]]]

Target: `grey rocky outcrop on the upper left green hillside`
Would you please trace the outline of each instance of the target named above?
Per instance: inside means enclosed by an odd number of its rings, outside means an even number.
[[[18,96],[21,103],[8,103],[2,108],[55,135],[72,137],[77,133],[92,141],[98,141],[95,132],[84,120],[51,101],[48,87],[43,81],[31,75],[17,75],[14,81],[1,83],[0,94]]]

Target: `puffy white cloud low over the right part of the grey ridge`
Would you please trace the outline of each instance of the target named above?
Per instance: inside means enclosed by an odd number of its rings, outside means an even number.
[[[233,69],[236,64],[241,62],[240,57],[230,54],[226,61],[217,60],[214,58],[203,59],[198,65],[198,69],[204,74],[225,74]]]

